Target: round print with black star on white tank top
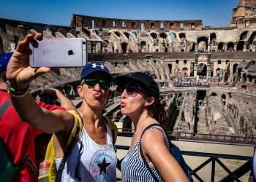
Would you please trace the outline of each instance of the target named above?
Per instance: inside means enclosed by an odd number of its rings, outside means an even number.
[[[109,171],[113,167],[113,162],[116,161],[116,155],[113,151],[100,149],[94,154],[90,162],[90,173],[94,181],[108,181]],[[112,164],[112,165],[111,165]]]

